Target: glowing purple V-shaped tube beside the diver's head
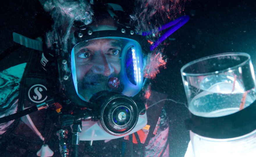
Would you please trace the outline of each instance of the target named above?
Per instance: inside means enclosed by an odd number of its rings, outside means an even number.
[[[151,46],[150,46],[150,50],[154,50],[161,42],[163,42],[166,38],[168,38],[168,36],[170,36],[171,34],[173,34],[176,30],[178,30],[181,26],[183,26],[186,22],[189,21],[189,16],[182,16],[179,17],[178,19],[171,21],[165,25],[163,25],[162,27],[158,28],[158,31],[162,31],[165,30],[166,28],[169,28],[171,26],[173,26],[172,28],[170,28],[167,32],[165,32],[157,41],[155,41]],[[143,36],[146,35],[150,35],[153,34],[157,31],[153,30],[151,32],[142,32]]]

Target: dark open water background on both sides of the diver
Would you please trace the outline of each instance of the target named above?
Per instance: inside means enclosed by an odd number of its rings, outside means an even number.
[[[34,22],[38,7],[33,6],[37,5],[39,3],[36,1],[0,2],[0,52],[3,54],[16,47],[19,51],[19,55],[5,56],[16,62],[1,61],[0,71],[26,61],[28,51],[13,42],[12,33],[17,32],[32,39],[40,34]],[[152,87],[182,103],[186,103],[186,96],[180,69],[186,63],[222,52],[247,52],[256,66],[255,1],[191,0],[186,4],[184,12],[190,16],[190,20],[170,36],[172,39],[166,49],[169,57],[167,68],[161,70]],[[173,102],[167,102],[166,108],[170,121],[170,156],[182,157],[189,142],[189,131],[184,125],[189,112],[184,105]]]

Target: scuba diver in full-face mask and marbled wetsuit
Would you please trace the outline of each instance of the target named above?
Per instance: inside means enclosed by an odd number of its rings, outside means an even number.
[[[116,3],[40,3],[52,30],[41,41],[14,33],[34,50],[0,73],[1,156],[169,156],[157,103],[166,95],[149,79],[166,64],[157,48],[164,39],[154,37],[167,27],[143,32],[139,15]],[[187,20],[169,24],[171,33]]]

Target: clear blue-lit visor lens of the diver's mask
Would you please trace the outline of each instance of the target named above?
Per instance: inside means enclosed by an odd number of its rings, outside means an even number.
[[[104,37],[83,41],[71,52],[71,68],[78,96],[89,101],[102,91],[136,95],[142,88],[142,52],[137,41]]]

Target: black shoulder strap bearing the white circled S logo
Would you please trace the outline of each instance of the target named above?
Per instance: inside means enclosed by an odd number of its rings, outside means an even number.
[[[31,51],[20,83],[18,111],[51,100],[54,97],[58,87],[55,86],[56,73],[54,73],[55,67],[53,65],[56,64],[50,54]],[[49,132],[44,131],[45,123],[52,125],[49,120],[46,120],[46,117],[47,111],[45,109],[33,112],[25,119],[23,117],[23,122],[21,122],[28,126],[27,129],[30,128],[29,131],[22,132],[15,129],[13,133],[26,138],[34,135],[37,137],[34,140],[44,140],[49,136]]]

